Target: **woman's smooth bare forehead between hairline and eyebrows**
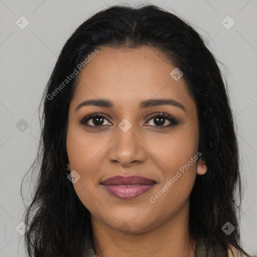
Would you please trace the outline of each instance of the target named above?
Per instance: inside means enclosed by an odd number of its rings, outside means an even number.
[[[171,77],[176,67],[162,51],[150,47],[97,49],[99,53],[78,74],[76,102],[109,98],[124,105],[164,97],[190,101],[183,77],[177,81]]]

